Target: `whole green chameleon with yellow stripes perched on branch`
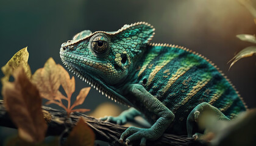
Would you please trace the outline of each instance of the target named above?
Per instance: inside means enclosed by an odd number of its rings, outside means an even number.
[[[60,58],[77,77],[115,102],[130,106],[119,125],[142,116],[149,128],[129,127],[119,141],[155,141],[163,133],[198,136],[202,112],[231,120],[246,111],[234,86],[204,56],[182,46],[151,43],[155,34],[145,22],[124,25],[115,32],[84,30],[60,47]]]

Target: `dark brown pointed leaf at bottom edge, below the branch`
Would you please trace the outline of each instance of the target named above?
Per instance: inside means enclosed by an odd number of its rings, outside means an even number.
[[[85,123],[82,117],[77,122],[76,126],[69,133],[68,139],[66,139],[65,146],[93,146],[95,141],[95,134],[87,123]]]

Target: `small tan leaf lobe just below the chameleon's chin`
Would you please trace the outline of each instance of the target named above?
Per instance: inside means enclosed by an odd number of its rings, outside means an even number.
[[[68,72],[60,64],[57,64],[60,72],[60,84],[66,92],[66,96],[69,98],[75,91],[74,77],[70,79]]]

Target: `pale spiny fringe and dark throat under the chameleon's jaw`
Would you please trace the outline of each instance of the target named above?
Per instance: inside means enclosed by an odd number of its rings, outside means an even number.
[[[96,88],[96,90],[99,91],[102,95],[105,95],[105,97],[108,97],[108,99],[111,99],[120,104],[132,106],[132,103],[130,103],[129,100],[118,94],[118,92],[114,91],[111,88],[105,88],[106,85],[104,82],[102,82],[102,80],[100,80],[99,78],[91,77],[91,75],[87,74],[87,72],[82,72],[81,69],[76,66],[76,64],[66,60],[63,52],[60,52],[60,58],[62,59],[62,63],[65,64],[66,68],[68,68],[69,71],[73,72],[75,75],[77,75],[77,77],[80,77],[81,80],[91,85],[91,87]]]

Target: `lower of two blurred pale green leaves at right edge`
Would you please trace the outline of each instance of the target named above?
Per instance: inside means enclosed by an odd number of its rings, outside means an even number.
[[[233,64],[236,63],[236,61],[240,60],[241,58],[245,57],[251,57],[252,55],[256,54],[256,46],[249,46],[238,52],[238,54],[235,55],[230,61],[232,63],[230,64],[229,69],[233,66]],[[230,63],[230,61],[228,63]]]

